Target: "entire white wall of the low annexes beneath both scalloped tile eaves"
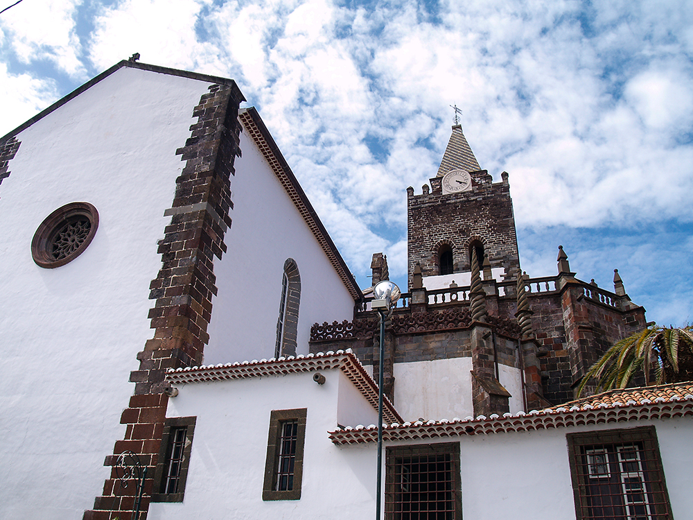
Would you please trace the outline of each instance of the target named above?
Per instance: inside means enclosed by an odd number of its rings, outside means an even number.
[[[369,518],[375,508],[376,444],[332,444],[339,384],[337,370],[262,379],[185,385],[169,401],[168,415],[196,416],[183,503],[155,503],[149,518],[301,519]],[[263,502],[270,410],[308,408],[304,480],[298,501]],[[459,442],[463,518],[574,520],[568,433],[656,426],[675,518],[693,510],[690,417],[632,421],[520,433],[385,442],[389,446]]]

